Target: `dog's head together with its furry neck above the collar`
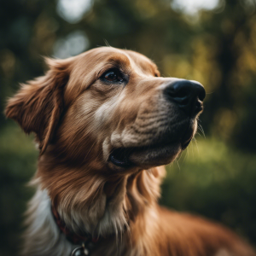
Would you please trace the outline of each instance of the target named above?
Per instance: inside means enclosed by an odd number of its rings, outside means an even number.
[[[160,195],[164,169],[143,169],[172,162],[194,137],[205,90],[160,77],[131,50],[102,47],[47,63],[6,115],[36,134],[36,180],[70,229],[123,230]]]

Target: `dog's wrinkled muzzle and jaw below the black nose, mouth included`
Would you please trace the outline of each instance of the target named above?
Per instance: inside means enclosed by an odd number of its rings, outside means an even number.
[[[168,165],[195,136],[197,115],[189,117],[162,95],[152,96],[139,105],[133,121],[121,119],[105,138],[104,160],[116,171]]]

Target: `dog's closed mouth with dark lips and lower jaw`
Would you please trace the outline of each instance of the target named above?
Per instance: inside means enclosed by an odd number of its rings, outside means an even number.
[[[162,166],[171,163],[177,155],[189,146],[194,137],[194,129],[189,127],[182,139],[179,141],[154,143],[144,147],[133,148],[114,148],[109,155],[108,160],[114,166],[122,168],[131,168],[132,166],[141,166],[150,168],[153,166]]]

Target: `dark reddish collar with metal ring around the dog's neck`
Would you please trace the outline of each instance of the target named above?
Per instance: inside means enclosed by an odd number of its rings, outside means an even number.
[[[52,205],[51,212],[55,219],[55,224],[58,226],[59,230],[66,236],[67,240],[72,242],[74,245],[80,245],[76,247],[71,256],[87,256],[90,255],[90,251],[95,247],[96,242],[99,238],[88,236],[79,236],[67,228],[65,222],[61,219],[60,214],[57,212],[55,207]]]

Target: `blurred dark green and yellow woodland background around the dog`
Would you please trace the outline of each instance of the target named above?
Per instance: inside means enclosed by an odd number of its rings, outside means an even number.
[[[6,99],[43,74],[42,55],[76,55],[105,40],[147,55],[164,76],[205,85],[206,138],[167,167],[161,203],[216,219],[256,245],[255,0],[220,0],[196,14],[170,0],[82,2],[79,15],[63,5],[75,0],[0,2],[0,255],[18,251],[38,157],[32,136],[4,118]]]

